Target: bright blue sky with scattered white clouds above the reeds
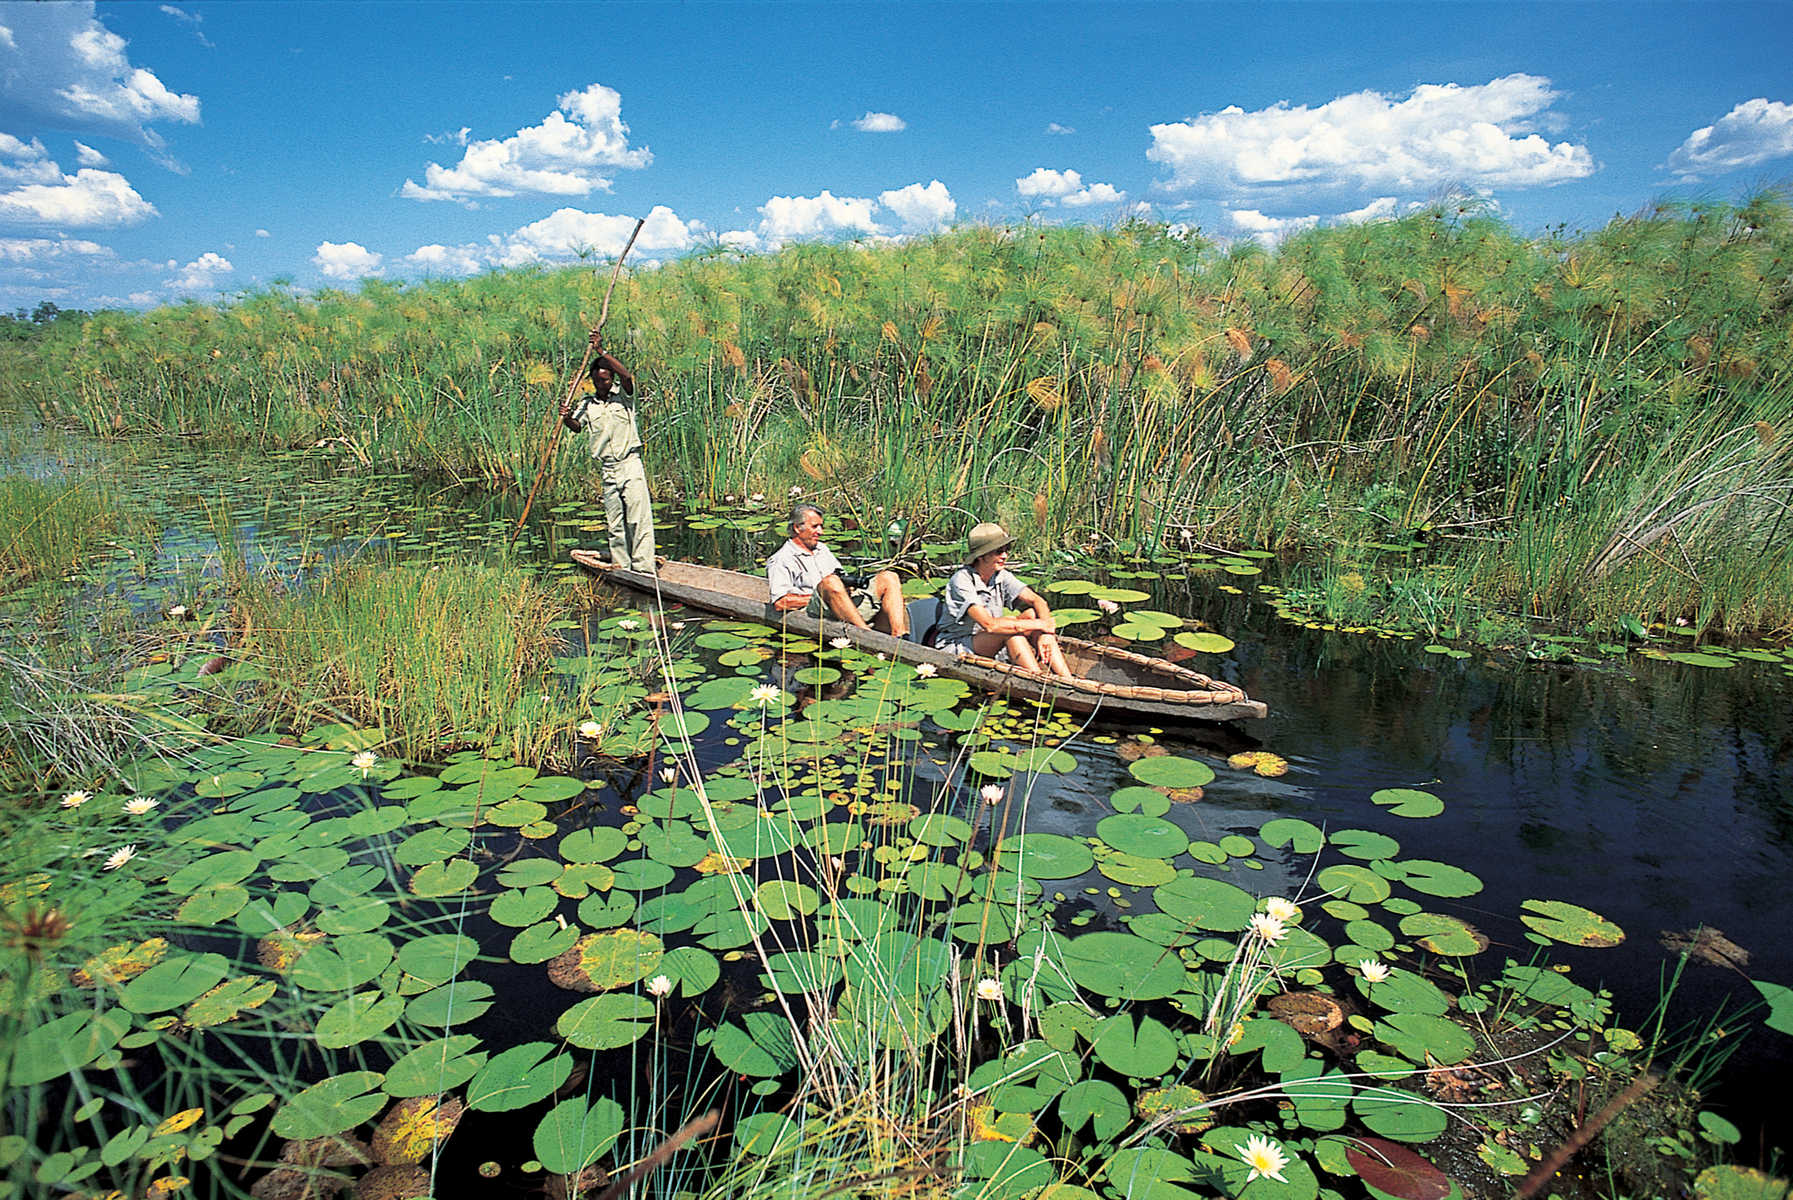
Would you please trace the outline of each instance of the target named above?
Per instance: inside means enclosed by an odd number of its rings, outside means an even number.
[[[20,4],[0,312],[1130,215],[1526,231],[1793,174],[1788,4]]]

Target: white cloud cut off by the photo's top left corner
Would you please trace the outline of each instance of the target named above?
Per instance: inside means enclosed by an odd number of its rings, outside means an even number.
[[[197,124],[199,97],[172,91],[154,72],[134,66],[126,39],[82,4],[13,4],[11,41],[27,68],[0,70],[0,111],[20,126],[104,135],[161,149],[156,122]],[[14,126],[16,127],[16,126]]]

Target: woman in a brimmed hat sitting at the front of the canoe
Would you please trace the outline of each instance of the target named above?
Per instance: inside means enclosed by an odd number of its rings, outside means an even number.
[[[1045,599],[1008,570],[1008,547],[1015,538],[1002,526],[984,522],[965,543],[965,565],[947,579],[940,601],[940,631],[934,644],[954,655],[1006,657],[1024,671],[1072,678],[1058,648],[1058,622]],[[1027,615],[1008,617],[1009,608]]]

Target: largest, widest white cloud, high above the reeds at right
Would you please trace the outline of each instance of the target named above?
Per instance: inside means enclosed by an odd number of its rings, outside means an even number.
[[[1354,91],[1318,108],[1237,106],[1151,126],[1146,158],[1185,188],[1531,187],[1594,170],[1585,145],[1529,129],[1553,120],[1558,93],[1540,75],[1486,84],[1422,84],[1404,99]]]

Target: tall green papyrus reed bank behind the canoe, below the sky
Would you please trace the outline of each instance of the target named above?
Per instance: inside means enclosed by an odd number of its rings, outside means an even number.
[[[606,341],[669,500],[801,484],[1035,547],[1418,536],[1488,606],[1784,626],[1789,239],[1779,192],[1544,237],[1452,201],[1275,249],[961,226],[633,269]],[[0,350],[0,402],[527,488],[606,267],[56,321]]]

